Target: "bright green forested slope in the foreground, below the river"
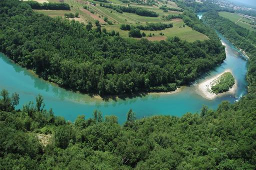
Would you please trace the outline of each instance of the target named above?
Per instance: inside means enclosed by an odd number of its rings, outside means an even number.
[[[15,110],[18,95],[0,95],[0,169],[256,168],[255,93],[181,117],[129,110],[123,125],[97,110],[65,121],[40,95]]]

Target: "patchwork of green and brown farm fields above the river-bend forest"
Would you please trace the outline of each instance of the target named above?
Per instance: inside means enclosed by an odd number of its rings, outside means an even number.
[[[58,0],[49,0],[51,2],[57,2]],[[126,6],[126,3],[123,3],[119,0],[110,0],[112,2],[112,5],[123,5]],[[168,14],[171,15],[178,15],[182,12],[178,11],[170,11],[163,12],[162,9],[159,9],[159,6],[166,5],[167,7],[171,8],[179,8],[174,2],[168,1],[166,3],[162,3],[160,1],[157,2],[157,5],[147,6],[147,5],[141,5],[136,3],[130,3],[130,6],[134,7],[142,7],[147,10],[152,10],[154,12],[157,12],[159,14],[158,17],[149,17],[149,16],[140,16],[135,13],[128,13],[123,12],[119,13],[116,12],[113,9],[102,7],[99,5],[99,1],[85,1],[85,0],[64,0],[65,3],[68,3],[71,6],[71,11],[57,11],[57,10],[35,10],[37,12],[49,15],[49,16],[61,16],[64,17],[64,13],[75,13],[79,12],[79,18],[74,18],[75,20],[79,22],[87,23],[88,21],[91,21],[94,23],[94,20],[97,19],[102,24],[102,28],[106,28],[108,32],[114,30],[118,31],[120,36],[128,37],[128,31],[121,30],[120,24],[126,23],[130,25],[136,25],[136,24],[145,24],[146,22],[164,22],[164,23],[173,23],[173,27],[167,28],[164,30],[157,30],[157,31],[150,31],[150,30],[141,30],[141,32],[144,32],[146,34],[147,39],[149,40],[164,40],[167,37],[173,37],[178,36],[180,39],[187,40],[189,42],[195,41],[195,40],[204,40],[208,39],[208,37],[200,32],[197,32],[190,28],[189,26],[184,26],[184,22],[182,19],[172,19],[171,21],[163,20],[162,16],[166,16]],[[90,4],[90,2],[96,3],[96,5]],[[105,3],[107,4],[107,3]],[[109,3],[108,3],[109,4]],[[88,10],[84,9],[83,6],[87,5]],[[94,11],[94,13],[90,12]],[[104,17],[107,17],[108,21],[111,21],[113,24],[108,24],[103,20]],[[151,33],[152,36],[148,36],[148,34]],[[163,35],[160,35],[162,33]]]

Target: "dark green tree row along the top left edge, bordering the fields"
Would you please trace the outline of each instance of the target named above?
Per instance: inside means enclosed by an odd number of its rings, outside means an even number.
[[[28,0],[25,2],[28,3],[32,9],[70,10],[70,6],[67,3],[57,3],[57,2],[39,3],[33,0]]]

